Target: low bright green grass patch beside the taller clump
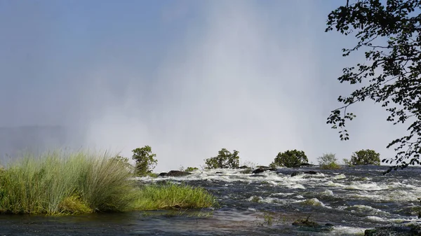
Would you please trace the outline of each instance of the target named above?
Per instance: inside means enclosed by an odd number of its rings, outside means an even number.
[[[195,209],[213,207],[215,204],[215,197],[204,188],[167,182],[142,186],[134,209]]]

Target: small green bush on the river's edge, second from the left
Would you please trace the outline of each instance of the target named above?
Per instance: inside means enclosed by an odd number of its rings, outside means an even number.
[[[222,148],[218,152],[218,156],[205,160],[205,169],[230,168],[234,169],[240,165],[239,151],[234,150],[233,153]]]

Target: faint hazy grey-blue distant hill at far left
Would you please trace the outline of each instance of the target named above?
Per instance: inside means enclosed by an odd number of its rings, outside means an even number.
[[[20,151],[40,153],[65,146],[67,133],[62,126],[0,127],[0,160]]]

